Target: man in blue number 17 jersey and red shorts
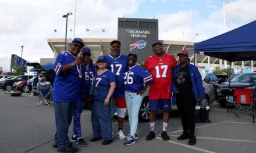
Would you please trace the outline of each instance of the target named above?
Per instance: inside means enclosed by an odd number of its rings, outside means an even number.
[[[117,137],[120,140],[125,140],[126,136],[123,134],[123,122],[125,120],[126,103],[125,103],[125,84],[124,74],[127,68],[127,56],[120,55],[120,41],[112,41],[110,43],[111,53],[106,55],[108,60],[107,68],[115,74],[116,88],[113,94],[113,99],[116,105],[116,113],[118,115],[118,132]]]

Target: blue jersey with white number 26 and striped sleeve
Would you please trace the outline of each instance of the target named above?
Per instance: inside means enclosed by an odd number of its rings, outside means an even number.
[[[152,75],[147,70],[143,70],[140,65],[128,67],[125,72],[125,90],[128,92],[138,92],[144,88],[144,82],[150,83],[153,81]]]

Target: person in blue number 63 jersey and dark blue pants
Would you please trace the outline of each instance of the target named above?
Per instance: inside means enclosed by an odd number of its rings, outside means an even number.
[[[83,48],[81,50],[81,70],[82,70],[82,82],[79,93],[79,101],[74,106],[73,113],[73,135],[71,141],[77,143],[79,147],[86,146],[84,139],[81,136],[81,123],[80,117],[83,111],[83,104],[86,103],[87,95],[89,94],[89,88],[94,77],[94,65],[90,63],[91,50],[89,48]]]

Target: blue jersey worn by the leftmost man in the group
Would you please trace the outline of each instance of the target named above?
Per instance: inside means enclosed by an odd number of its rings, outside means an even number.
[[[79,100],[79,90],[81,85],[81,65],[70,67],[67,71],[61,72],[66,64],[76,60],[70,52],[64,51],[58,55],[55,61],[54,88],[52,95],[54,102],[76,102]]]

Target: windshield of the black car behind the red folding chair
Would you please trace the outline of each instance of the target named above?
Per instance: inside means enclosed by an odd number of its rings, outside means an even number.
[[[237,74],[230,82],[256,82],[255,74]]]

